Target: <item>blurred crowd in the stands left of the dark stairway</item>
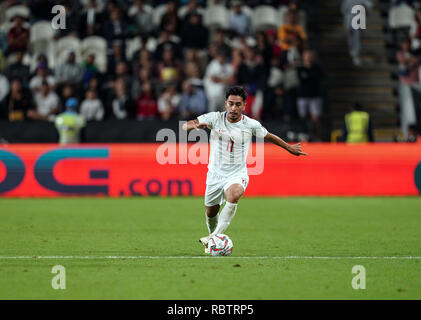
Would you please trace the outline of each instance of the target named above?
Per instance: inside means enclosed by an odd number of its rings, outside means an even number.
[[[318,122],[323,72],[306,4],[3,1],[0,118],[54,121],[76,98],[87,121],[191,119],[222,110],[225,88],[239,84],[253,118]],[[51,27],[54,5],[65,8],[65,28]]]

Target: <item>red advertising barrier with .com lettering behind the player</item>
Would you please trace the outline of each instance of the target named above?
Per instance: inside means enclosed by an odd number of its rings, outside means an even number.
[[[203,196],[207,165],[189,160],[161,165],[156,152],[162,146],[0,146],[0,196]],[[184,151],[195,147],[189,144]],[[255,145],[250,149],[255,151]],[[295,157],[265,144],[264,170],[250,176],[246,196],[404,196],[421,192],[420,143],[308,143],[304,150],[308,156]],[[182,151],[178,150],[178,162]]]

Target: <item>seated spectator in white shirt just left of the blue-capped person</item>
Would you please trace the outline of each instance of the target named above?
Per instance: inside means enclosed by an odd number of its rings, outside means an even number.
[[[50,90],[47,81],[43,81],[41,89],[34,95],[36,109],[28,110],[28,118],[34,120],[54,121],[60,103],[58,95]]]

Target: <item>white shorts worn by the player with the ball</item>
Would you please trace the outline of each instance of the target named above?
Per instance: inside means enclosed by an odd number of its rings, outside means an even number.
[[[233,185],[239,184],[246,191],[249,183],[247,175],[233,175],[230,177],[221,177],[208,172],[206,178],[206,191],[205,191],[205,206],[211,207],[217,204],[222,205],[225,200],[225,191]]]

